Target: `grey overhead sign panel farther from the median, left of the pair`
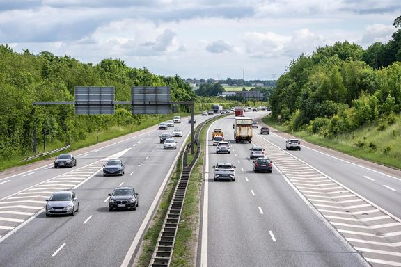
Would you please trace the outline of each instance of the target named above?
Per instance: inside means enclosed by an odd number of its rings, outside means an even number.
[[[114,114],[114,87],[75,86],[75,114]]]

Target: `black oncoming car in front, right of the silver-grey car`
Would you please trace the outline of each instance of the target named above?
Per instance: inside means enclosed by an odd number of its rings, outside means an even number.
[[[109,211],[113,209],[133,209],[138,207],[138,193],[132,187],[118,187],[109,194]]]

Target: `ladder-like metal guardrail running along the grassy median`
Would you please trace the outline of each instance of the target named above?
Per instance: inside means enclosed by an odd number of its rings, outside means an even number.
[[[205,122],[199,124],[194,134],[194,145],[196,145],[197,149],[196,154],[189,165],[187,165],[187,154],[191,148],[191,143],[185,147],[182,160],[182,165],[184,167],[182,168],[181,177],[178,180],[178,184],[175,187],[175,192],[173,199],[171,200],[170,207],[168,207],[166,217],[164,218],[164,223],[162,225],[159,238],[157,238],[156,248],[149,264],[150,267],[170,266],[171,257],[173,257],[175,236],[177,235],[182,207],[184,204],[185,195],[187,193],[189,176],[191,175],[191,171],[199,158],[199,154],[201,154],[201,142],[199,141],[199,134],[201,133],[201,129],[203,125],[205,125]]]

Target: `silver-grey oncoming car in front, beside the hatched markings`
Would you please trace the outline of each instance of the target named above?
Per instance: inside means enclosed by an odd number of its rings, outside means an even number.
[[[46,201],[46,217],[62,214],[74,216],[79,211],[77,195],[72,190],[54,192]]]

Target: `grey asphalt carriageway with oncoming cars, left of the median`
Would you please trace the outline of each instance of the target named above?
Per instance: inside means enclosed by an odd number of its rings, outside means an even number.
[[[209,116],[196,116],[197,124]],[[130,266],[143,231],[178,159],[187,118],[174,128],[178,149],[164,150],[157,126],[81,149],[77,167],[54,169],[53,161],[0,174],[0,266]],[[102,164],[119,158],[125,175],[103,177]],[[139,193],[136,211],[108,210],[108,193],[133,186]],[[45,198],[74,188],[79,200],[75,216],[45,216]]]

